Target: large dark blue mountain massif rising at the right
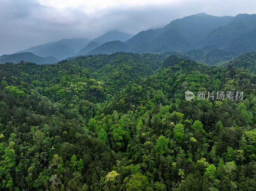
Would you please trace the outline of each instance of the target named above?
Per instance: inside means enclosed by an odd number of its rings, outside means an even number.
[[[230,56],[234,52],[256,51],[256,14],[216,17],[199,13],[173,20],[163,28],[141,31],[124,43],[133,53],[184,53],[204,47],[229,51]]]

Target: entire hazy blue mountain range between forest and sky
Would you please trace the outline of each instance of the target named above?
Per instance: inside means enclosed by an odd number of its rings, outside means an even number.
[[[63,60],[78,55],[175,52],[192,60],[214,65],[248,51],[256,51],[256,14],[216,17],[199,13],[173,20],[163,28],[141,31],[136,35],[109,31],[93,40],[62,39],[17,51]],[[206,56],[208,55],[208,56]],[[22,58],[22,55],[20,55]],[[29,62],[39,61],[32,59]],[[17,55],[1,58],[11,62]],[[210,60],[209,60],[210,57]],[[7,59],[8,58],[8,59]],[[23,59],[25,60],[25,58]],[[3,61],[2,61],[3,62]],[[42,60],[40,63],[43,63]]]

